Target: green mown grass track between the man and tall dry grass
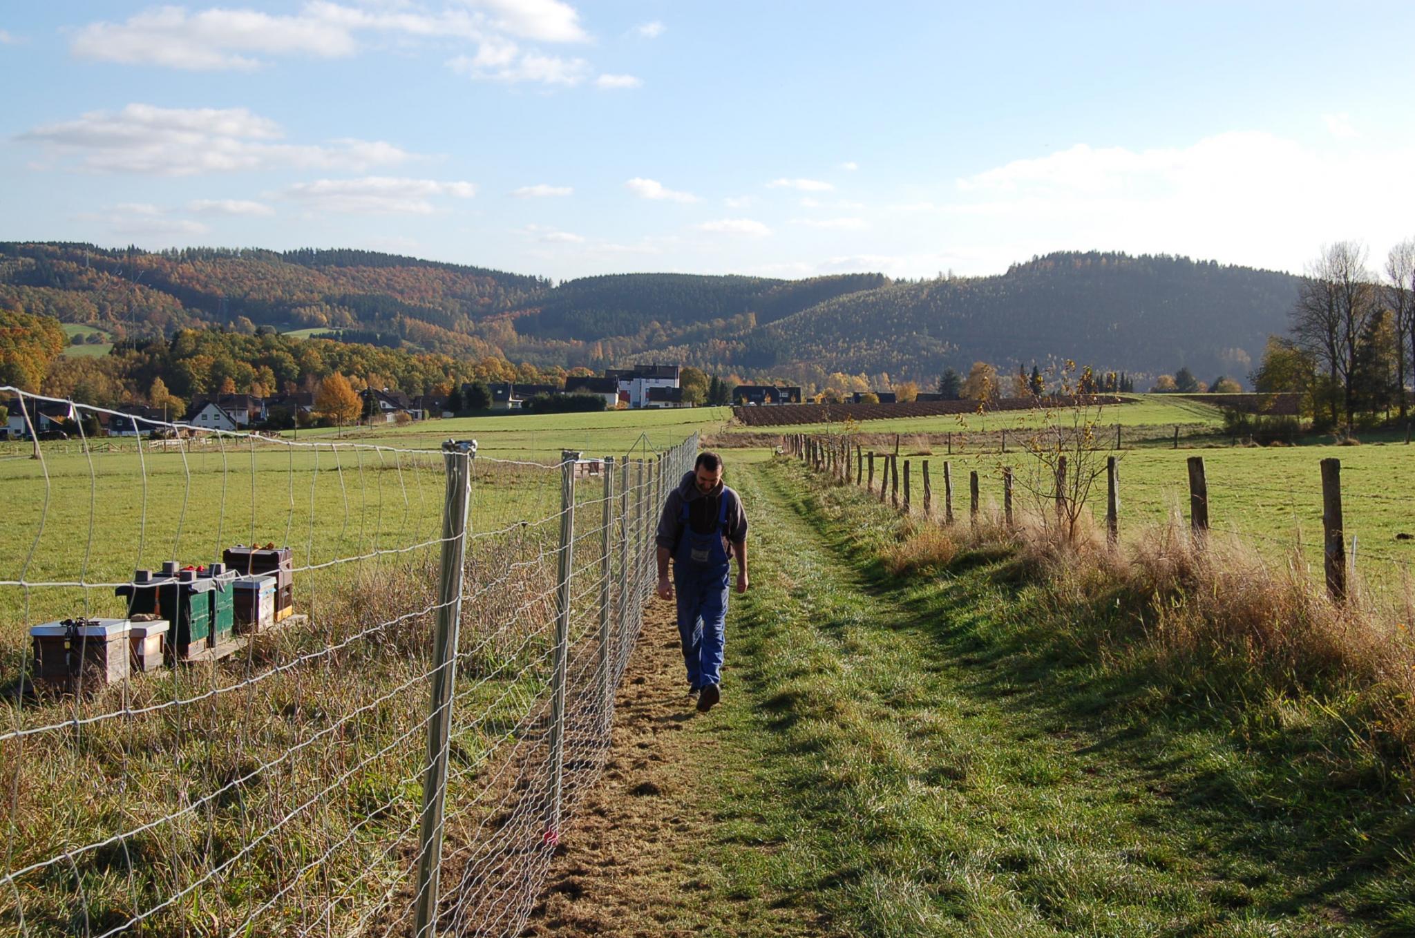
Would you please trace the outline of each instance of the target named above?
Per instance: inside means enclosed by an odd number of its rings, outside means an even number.
[[[784,461],[732,484],[753,587],[723,706],[676,747],[710,821],[647,908],[678,896],[674,925],[720,935],[1415,934],[1415,825],[1385,782],[1312,784],[1320,753],[1029,647],[1046,610],[1005,559],[889,580],[899,522],[863,492]]]

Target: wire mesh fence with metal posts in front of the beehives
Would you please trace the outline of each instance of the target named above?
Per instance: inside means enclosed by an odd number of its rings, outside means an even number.
[[[0,390],[31,433],[110,416]],[[535,463],[137,423],[0,463],[0,932],[516,934],[696,437]]]

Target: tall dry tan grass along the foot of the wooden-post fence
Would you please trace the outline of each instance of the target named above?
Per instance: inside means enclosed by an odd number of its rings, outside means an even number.
[[[1090,514],[1064,538],[1047,518],[1019,512],[1007,526],[995,509],[976,523],[904,519],[882,562],[908,574],[978,552],[1010,555],[1068,638],[1108,661],[1139,661],[1176,682],[1206,675],[1217,693],[1244,700],[1337,702],[1358,744],[1415,765],[1408,577],[1394,601],[1357,580],[1337,604],[1298,549],[1275,562],[1235,536],[1196,538],[1177,516],[1109,548]]]

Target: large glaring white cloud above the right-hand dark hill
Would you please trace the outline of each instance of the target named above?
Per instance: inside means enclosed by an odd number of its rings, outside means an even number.
[[[1373,245],[1408,236],[1415,192],[1390,180],[1412,160],[1409,149],[1332,153],[1262,132],[1155,150],[1077,144],[961,178],[938,212],[999,266],[1039,248],[1121,246],[1300,270],[1350,232]]]

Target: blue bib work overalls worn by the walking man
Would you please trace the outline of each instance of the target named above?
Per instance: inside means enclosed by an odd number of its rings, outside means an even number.
[[[678,637],[683,642],[688,686],[693,690],[722,682],[723,625],[727,620],[727,494],[717,497],[717,523],[700,535],[688,519],[674,552],[674,586],[678,593]]]

